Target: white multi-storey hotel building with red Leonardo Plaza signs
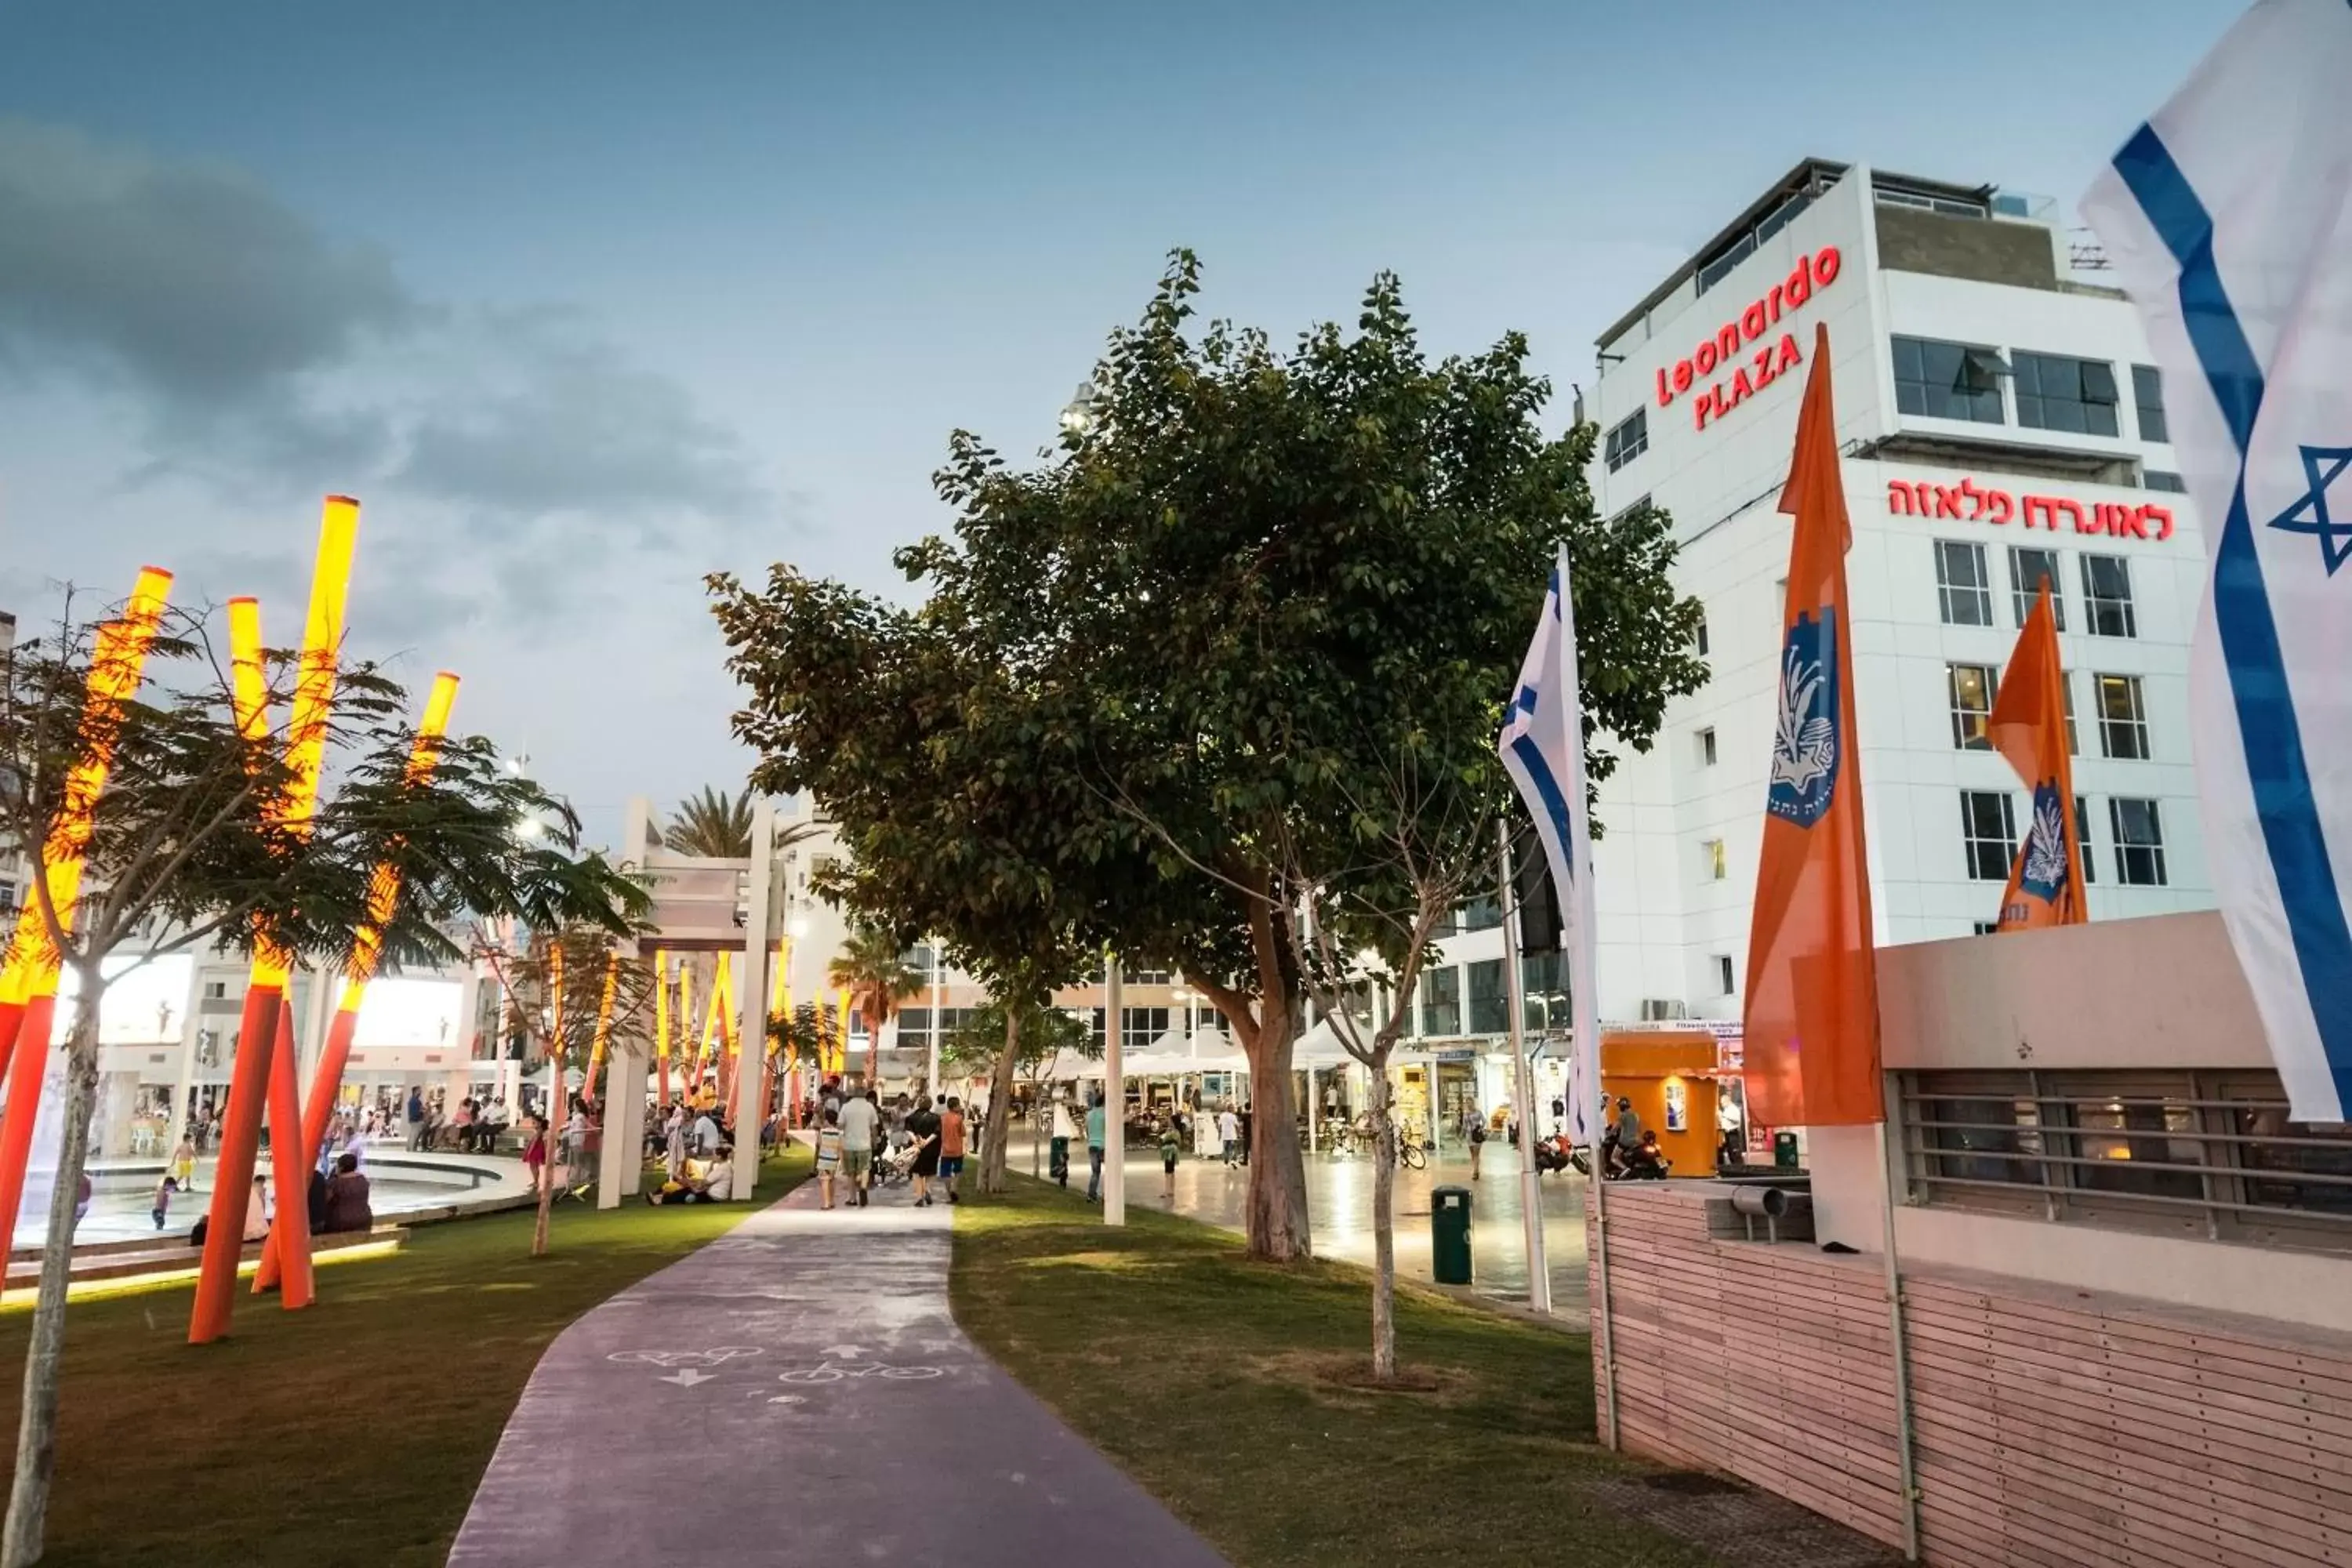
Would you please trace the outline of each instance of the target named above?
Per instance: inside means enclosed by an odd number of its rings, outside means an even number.
[[[1609,1023],[1740,1016],[1790,548],[1776,503],[1816,322],[1853,517],[1879,943],[1969,936],[1999,910],[2027,792],[1983,717],[2042,574],[2093,919],[2211,905],[2187,717],[2204,543],[2131,303],[2072,266],[2049,202],[1806,160],[1599,339],[1583,393],[1597,508],[1672,515],[1712,670],[1602,788]],[[1501,936],[1446,957],[1463,976],[1439,987],[1468,1016]]]

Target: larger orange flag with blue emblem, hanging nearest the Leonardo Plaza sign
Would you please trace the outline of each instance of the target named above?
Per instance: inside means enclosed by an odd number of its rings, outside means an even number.
[[[1788,550],[1780,701],[1748,931],[1748,1105],[1764,1124],[1851,1126],[1884,1121],[1886,1110],[1846,614],[1853,529],[1830,407],[1828,327],[1813,329],[1813,369],[1780,510],[1797,520],[1797,531]]]

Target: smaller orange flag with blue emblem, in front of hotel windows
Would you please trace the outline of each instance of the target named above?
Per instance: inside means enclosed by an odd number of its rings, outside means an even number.
[[[2049,578],[2009,654],[1987,733],[2034,792],[2025,849],[2009,867],[2009,891],[2002,893],[1999,929],[2079,926],[2091,919],[2091,910],[2082,896],[2074,759],[2065,743],[2065,672],[2058,668],[2058,616],[2051,611]]]

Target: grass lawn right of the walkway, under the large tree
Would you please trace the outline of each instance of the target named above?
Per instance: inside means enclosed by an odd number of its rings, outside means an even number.
[[[1703,1568],[1583,1481],[1637,1474],[1592,1439],[1581,1333],[1399,1295],[1428,1392],[1371,1394],[1369,1279],[1249,1262],[1225,1232],[1025,1178],[957,1211],[955,1316],[1237,1568],[1477,1561]]]

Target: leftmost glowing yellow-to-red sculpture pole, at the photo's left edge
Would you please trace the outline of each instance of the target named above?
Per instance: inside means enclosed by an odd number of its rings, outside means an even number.
[[[172,574],[141,567],[120,621],[99,628],[89,651],[89,686],[82,693],[82,755],[66,773],[66,792],[56,820],[42,844],[42,882],[59,929],[73,929],[82,896],[82,860],[96,825],[99,795],[115,764],[115,715],[139,691],[146,654],[162,625],[165,595]],[[24,1173],[33,1157],[33,1119],[40,1114],[40,1079],[49,1067],[49,1034],[56,1030],[56,976],[64,954],[49,933],[49,919],[33,891],[16,912],[16,940],[9,943],[0,999],[12,1011],[0,1013],[0,1060],[7,1063],[7,1110],[0,1112],[0,1239],[16,1234],[16,1208],[24,1204]],[[96,997],[87,999],[96,1006]]]

